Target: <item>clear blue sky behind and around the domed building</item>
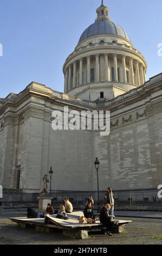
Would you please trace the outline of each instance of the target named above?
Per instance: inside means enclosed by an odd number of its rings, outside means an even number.
[[[125,29],[146,58],[147,78],[162,71],[161,0],[105,0],[112,21]],[[94,22],[100,0],[0,0],[0,97],[31,81],[63,92],[62,66],[82,32]]]

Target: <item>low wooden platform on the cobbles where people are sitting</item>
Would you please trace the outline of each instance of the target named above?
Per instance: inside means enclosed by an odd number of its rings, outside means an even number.
[[[61,229],[63,235],[68,237],[75,237],[78,239],[88,238],[88,231],[104,229],[104,225],[100,221],[96,221],[95,224],[79,223],[79,217],[83,216],[83,212],[73,212],[68,214],[68,220],[61,220],[56,218],[56,215],[47,216],[48,224],[44,224],[44,218],[10,218],[12,222],[16,222],[21,228],[28,228],[34,226],[37,231],[50,232],[50,229]],[[122,233],[124,231],[124,225],[132,221],[114,220],[113,233]]]

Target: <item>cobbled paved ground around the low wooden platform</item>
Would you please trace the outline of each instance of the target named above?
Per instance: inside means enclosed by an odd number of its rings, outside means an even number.
[[[8,217],[25,216],[23,209],[4,210],[0,212],[0,216],[0,245],[162,245],[162,220],[160,219],[127,217],[127,220],[133,222],[125,226],[125,232],[122,234],[109,237],[95,232],[91,233],[87,240],[70,240],[63,237],[61,231],[38,233],[33,228],[18,228]]]

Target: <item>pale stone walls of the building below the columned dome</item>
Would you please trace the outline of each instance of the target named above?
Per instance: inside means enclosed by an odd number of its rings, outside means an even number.
[[[54,131],[51,114],[64,106],[111,111],[110,135]],[[0,108],[0,182],[3,188],[38,192],[53,166],[53,190],[95,191],[98,156],[101,190],[157,187],[162,183],[161,111],[162,74],[104,106],[33,82],[22,93],[10,94]]]

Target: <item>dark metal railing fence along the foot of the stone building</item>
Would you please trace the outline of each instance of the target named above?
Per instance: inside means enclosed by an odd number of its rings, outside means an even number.
[[[157,188],[142,190],[121,190],[113,191],[115,197],[115,206],[160,206],[162,208],[162,199],[158,198]],[[100,204],[104,204],[105,191],[100,191]],[[5,203],[37,203],[39,193],[24,193],[23,190],[4,190],[1,201]],[[98,200],[98,193],[94,191],[52,191],[52,203],[61,204],[64,197],[69,197],[74,205],[85,205],[88,197],[94,198],[95,204]]]

